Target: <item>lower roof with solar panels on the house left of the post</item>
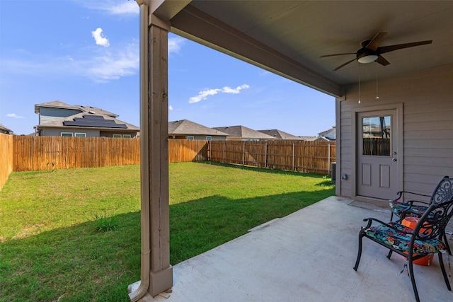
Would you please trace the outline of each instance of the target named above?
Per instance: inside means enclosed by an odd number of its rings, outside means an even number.
[[[115,117],[110,115],[96,115],[86,112],[80,112],[76,115],[71,115],[69,117],[62,117],[52,122],[47,122],[45,124],[38,124],[38,128],[43,127],[52,127],[52,128],[62,128],[62,127],[79,127],[79,128],[103,128],[103,129],[127,129],[132,131],[139,131],[139,127],[123,122],[122,120],[117,120]]]

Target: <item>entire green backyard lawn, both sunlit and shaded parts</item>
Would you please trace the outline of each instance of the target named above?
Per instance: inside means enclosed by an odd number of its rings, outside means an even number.
[[[321,175],[170,164],[171,264],[334,194]],[[140,277],[139,166],[12,173],[0,301],[128,301]]]

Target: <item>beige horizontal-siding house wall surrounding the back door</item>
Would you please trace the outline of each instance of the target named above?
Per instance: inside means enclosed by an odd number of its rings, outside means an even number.
[[[385,68],[385,67],[384,67]],[[355,146],[352,112],[357,106],[403,105],[403,187],[401,190],[431,194],[445,175],[453,175],[453,65],[413,74],[378,78],[345,88],[345,100],[337,99],[336,194],[352,196]]]

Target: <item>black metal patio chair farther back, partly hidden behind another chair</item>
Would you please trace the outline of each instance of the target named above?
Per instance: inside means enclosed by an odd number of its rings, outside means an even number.
[[[423,214],[425,214],[425,211],[428,209],[428,207],[430,207],[431,204],[439,204],[453,198],[453,178],[444,176],[437,184],[434,191],[432,191],[431,196],[409,191],[399,191],[396,192],[396,194],[398,194],[398,197],[389,201],[391,207],[390,221],[393,221],[394,215],[398,217],[396,222],[403,221],[403,219],[405,219],[407,216],[420,218]],[[403,197],[403,194],[405,194],[406,197],[409,196],[411,198],[416,198],[417,196],[419,196],[424,197],[424,199],[427,199],[426,197],[430,197],[430,199],[429,202],[420,200],[403,201],[403,199],[401,199],[401,197]],[[445,233],[445,231],[442,236],[445,245],[447,245],[447,251],[449,255],[452,255],[452,250],[449,247],[447,234]]]

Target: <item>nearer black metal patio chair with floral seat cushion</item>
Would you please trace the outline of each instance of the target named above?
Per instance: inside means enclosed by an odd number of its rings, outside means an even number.
[[[442,253],[445,252],[446,245],[442,242],[445,226],[453,216],[453,199],[439,204],[432,203],[420,217],[414,229],[403,226],[401,223],[391,221],[384,223],[374,218],[367,218],[367,226],[359,232],[359,249],[354,270],[359,267],[360,257],[362,256],[362,238],[369,238],[375,243],[389,249],[390,259],[392,252],[407,258],[408,273],[411,276],[415,300],[420,301],[418,296],[415,277],[413,274],[413,261],[428,255],[438,254],[440,269],[447,284],[447,289],[452,290],[447,272],[445,272]],[[373,223],[374,222],[374,223]],[[452,297],[453,301],[453,297]]]

